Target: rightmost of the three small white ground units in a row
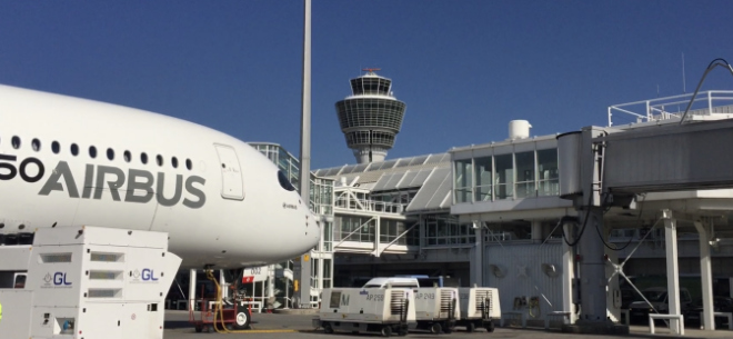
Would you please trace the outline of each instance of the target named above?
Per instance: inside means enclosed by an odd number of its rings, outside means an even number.
[[[493,332],[493,320],[501,319],[499,290],[490,287],[461,287],[459,296],[461,317],[456,326],[464,326],[469,332],[473,332],[479,327]]]

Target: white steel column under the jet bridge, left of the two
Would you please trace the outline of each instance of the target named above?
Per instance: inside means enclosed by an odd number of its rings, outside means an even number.
[[[662,210],[664,219],[664,246],[666,248],[666,296],[670,315],[680,315],[680,269],[677,266],[677,220],[671,210]],[[679,319],[670,319],[670,330],[680,335]]]

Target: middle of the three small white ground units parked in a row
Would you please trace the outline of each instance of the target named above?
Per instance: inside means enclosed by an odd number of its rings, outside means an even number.
[[[414,292],[418,329],[452,332],[460,317],[458,288],[418,288]]]

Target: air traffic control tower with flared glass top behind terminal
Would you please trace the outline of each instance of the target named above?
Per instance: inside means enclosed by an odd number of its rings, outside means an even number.
[[[347,144],[357,162],[383,161],[402,128],[406,106],[392,93],[392,80],[376,76],[380,69],[351,79],[351,96],[337,102],[337,113]]]

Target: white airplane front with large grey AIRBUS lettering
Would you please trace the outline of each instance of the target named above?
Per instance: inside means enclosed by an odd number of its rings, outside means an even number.
[[[56,226],[169,233],[181,268],[307,252],[320,226],[265,156],[223,132],[0,84],[0,235]]]

